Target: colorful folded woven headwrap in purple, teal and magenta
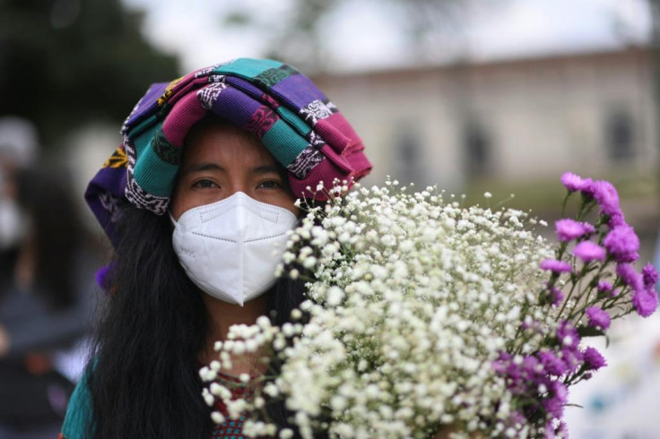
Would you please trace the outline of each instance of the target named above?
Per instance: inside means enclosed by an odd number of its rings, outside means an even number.
[[[296,196],[311,196],[306,188],[321,181],[357,180],[371,168],[360,137],[302,73],[270,59],[213,65],[153,84],[126,119],[123,144],[85,193],[111,240],[122,202],[167,211],[186,135],[209,112],[255,133],[287,169]]]

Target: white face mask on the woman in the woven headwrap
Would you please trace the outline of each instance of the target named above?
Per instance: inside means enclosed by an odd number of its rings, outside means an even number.
[[[243,306],[274,285],[286,232],[297,221],[287,209],[237,192],[172,218],[172,244],[197,287]]]

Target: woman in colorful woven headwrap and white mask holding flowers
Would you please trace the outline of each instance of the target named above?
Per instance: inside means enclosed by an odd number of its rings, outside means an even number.
[[[303,288],[274,279],[308,188],[369,172],[360,138],[305,76],[237,59],[154,84],[92,180],[92,211],[116,249],[96,354],[62,436],[240,437],[213,426],[197,371],[231,324],[287,321]],[[232,358],[223,379],[264,370]],[[221,408],[220,408],[221,409]],[[283,406],[269,415],[286,422]],[[247,414],[246,414],[247,416]]]

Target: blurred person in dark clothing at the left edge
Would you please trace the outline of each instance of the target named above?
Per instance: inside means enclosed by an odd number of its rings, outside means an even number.
[[[91,295],[79,297],[89,271],[74,202],[54,169],[33,165],[36,135],[26,124],[0,120],[2,439],[56,435],[73,390],[63,360],[84,335]]]

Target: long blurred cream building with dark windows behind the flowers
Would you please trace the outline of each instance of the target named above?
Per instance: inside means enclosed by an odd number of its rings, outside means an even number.
[[[656,168],[646,47],[318,75],[367,145],[372,179],[464,190]]]

